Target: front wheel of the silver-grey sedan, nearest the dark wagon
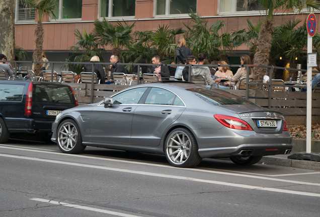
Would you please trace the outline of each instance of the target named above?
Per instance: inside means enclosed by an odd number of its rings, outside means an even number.
[[[75,121],[68,119],[59,124],[56,142],[63,153],[77,154],[85,150],[82,144],[81,132]]]

